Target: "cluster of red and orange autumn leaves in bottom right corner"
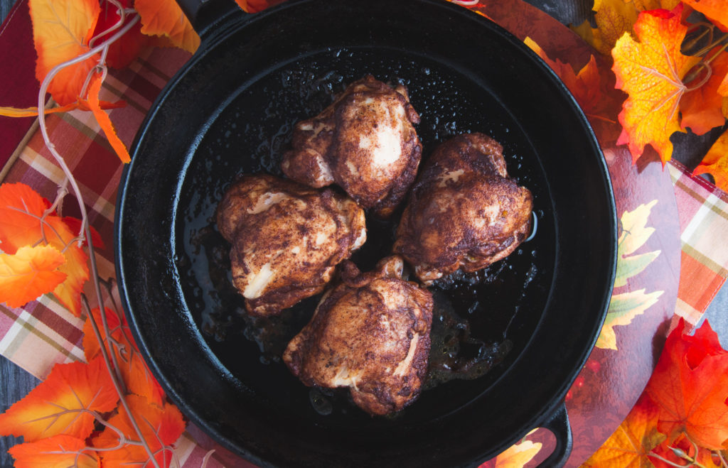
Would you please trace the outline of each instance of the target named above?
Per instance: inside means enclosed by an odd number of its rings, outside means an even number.
[[[727,466],[728,351],[680,320],[636,406],[584,467]]]

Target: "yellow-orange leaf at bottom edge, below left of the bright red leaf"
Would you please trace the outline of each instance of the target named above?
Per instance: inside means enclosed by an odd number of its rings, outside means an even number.
[[[582,468],[652,467],[652,449],[665,439],[665,435],[657,432],[657,415],[657,407],[642,395],[620,427]]]

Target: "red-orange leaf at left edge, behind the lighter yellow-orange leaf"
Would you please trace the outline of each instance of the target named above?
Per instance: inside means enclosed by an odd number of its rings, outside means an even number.
[[[89,279],[88,256],[76,244],[76,233],[60,217],[47,214],[46,209],[44,198],[28,185],[0,185],[0,246],[7,254],[14,254],[23,246],[41,244],[62,252],[66,262],[58,270],[66,279],[52,292],[78,317],[80,294]]]

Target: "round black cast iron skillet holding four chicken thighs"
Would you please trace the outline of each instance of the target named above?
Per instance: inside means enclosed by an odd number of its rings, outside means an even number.
[[[559,439],[546,464],[565,459],[563,397],[604,320],[616,217],[601,152],[561,81],[521,41],[445,1],[293,0],[250,16],[205,8],[190,10],[202,47],[141,126],[116,211],[124,309],[170,398],[266,466],[471,466],[539,425]],[[512,350],[391,418],[341,392],[312,394],[277,362],[316,298],[294,308],[282,336],[262,334],[229,286],[228,246],[212,222],[236,174],[280,174],[292,125],[366,73],[408,86],[424,158],[460,132],[502,142],[539,220],[505,261],[433,288],[438,313],[468,320],[481,358]],[[391,246],[392,225],[368,227],[355,256],[364,269]]]

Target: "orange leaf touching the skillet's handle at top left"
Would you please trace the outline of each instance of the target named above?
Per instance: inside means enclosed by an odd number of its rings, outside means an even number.
[[[134,7],[141,17],[141,32],[149,36],[165,36],[175,47],[193,52],[199,47],[199,36],[174,0],[136,0]]]

